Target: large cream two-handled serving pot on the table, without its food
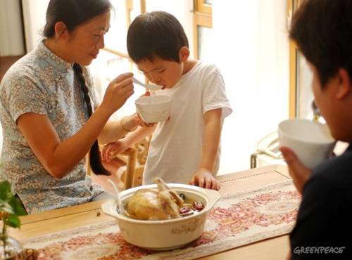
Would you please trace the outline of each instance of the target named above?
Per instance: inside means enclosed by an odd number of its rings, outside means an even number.
[[[208,212],[218,201],[220,194],[216,190],[186,184],[169,183],[168,186],[177,193],[184,193],[191,200],[203,202],[204,209],[191,216],[162,221],[142,221],[119,214],[116,211],[117,203],[115,200],[108,200],[103,203],[101,209],[105,214],[116,218],[122,238],[132,245],[151,250],[168,250],[182,247],[201,236]],[[120,193],[122,204],[125,204],[134,192],[142,188],[157,189],[157,186],[151,184],[123,190]]]

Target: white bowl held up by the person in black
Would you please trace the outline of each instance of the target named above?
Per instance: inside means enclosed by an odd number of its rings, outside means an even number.
[[[313,168],[332,154],[336,141],[326,124],[308,119],[288,119],[279,124],[279,144],[294,150],[308,168]]]

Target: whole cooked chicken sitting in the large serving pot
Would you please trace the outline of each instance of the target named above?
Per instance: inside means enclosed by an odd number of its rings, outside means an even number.
[[[127,214],[132,219],[164,220],[180,218],[179,208],[182,198],[172,190],[161,178],[156,177],[158,190],[137,190],[127,204]]]

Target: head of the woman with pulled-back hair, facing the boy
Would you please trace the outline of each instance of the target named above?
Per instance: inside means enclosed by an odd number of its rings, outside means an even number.
[[[69,63],[89,65],[104,46],[111,8],[108,0],[51,0],[44,37],[60,44]]]

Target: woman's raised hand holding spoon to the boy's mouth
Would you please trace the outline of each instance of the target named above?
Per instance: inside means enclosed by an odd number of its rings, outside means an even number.
[[[105,108],[110,115],[125,104],[127,98],[133,95],[133,74],[130,72],[120,74],[108,85],[101,108]]]

